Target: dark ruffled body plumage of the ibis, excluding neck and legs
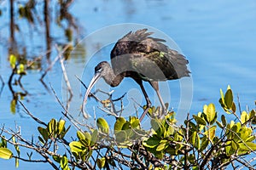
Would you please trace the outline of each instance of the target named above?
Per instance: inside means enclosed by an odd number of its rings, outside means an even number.
[[[144,81],[164,81],[189,77],[188,60],[168,48],[160,38],[150,37],[147,29],[130,31],[116,42],[111,51],[115,73],[140,77]],[[134,75],[136,74],[136,75]]]

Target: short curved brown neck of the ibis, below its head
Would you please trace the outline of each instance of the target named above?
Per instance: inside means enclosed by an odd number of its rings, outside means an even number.
[[[105,82],[107,82],[111,87],[116,87],[119,85],[120,82],[122,82],[124,78],[124,75],[122,74],[115,74],[113,70],[108,71],[108,75],[103,76],[103,79]]]

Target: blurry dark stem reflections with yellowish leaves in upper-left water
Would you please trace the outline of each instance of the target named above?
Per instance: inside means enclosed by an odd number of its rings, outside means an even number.
[[[23,85],[23,83],[32,85],[32,82],[38,81],[38,79],[32,79],[32,72],[44,72],[40,81],[49,91],[49,84],[44,82],[44,76],[53,69],[54,63],[51,57],[56,55],[55,47],[67,47],[64,57],[69,59],[73,45],[79,41],[79,26],[68,10],[73,1],[50,3],[49,0],[44,2],[29,0],[24,3],[10,0],[6,3],[9,4],[3,6],[6,10],[1,17],[9,23],[9,28],[3,27],[3,32],[6,31],[9,34],[1,34],[1,44],[8,47],[8,52],[3,51],[3,54],[7,56],[5,59],[8,59],[3,64],[4,66],[10,65],[10,74],[4,76],[9,77],[7,85],[12,94],[9,108],[10,112],[15,113],[18,99],[26,99],[27,94],[37,95]],[[55,10],[52,10],[53,8]],[[56,28],[59,33],[62,32],[62,35],[55,36]],[[9,41],[4,41],[4,39],[9,39]],[[46,60],[50,66],[47,66]],[[30,80],[25,81],[24,77]],[[1,93],[3,87],[4,84]]]

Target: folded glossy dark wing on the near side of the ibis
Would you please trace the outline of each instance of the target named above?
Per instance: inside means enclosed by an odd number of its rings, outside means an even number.
[[[165,81],[189,77],[188,60],[171,49],[167,53],[154,51],[148,54],[133,54],[130,62],[133,70],[137,71],[144,81]]]

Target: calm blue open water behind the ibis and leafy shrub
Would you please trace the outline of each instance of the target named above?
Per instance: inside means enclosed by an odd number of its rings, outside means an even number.
[[[41,4],[42,5],[42,4]],[[10,102],[12,94],[9,91],[7,82],[11,69],[8,62],[8,19],[9,3],[3,1],[1,4],[2,16],[0,16],[0,75],[3,77],[5,85],[3,92],[0,94],[0,125],[15,128],[15,123],[21,127],[22,134],[28,139],[33,133],[37,133],[38,124],[26,115],[21,105],[17,105],[16,113],[10,112]],[[70,81],[73,85],[75,97],[73,98],[70,111],[74,116],[79,117],[79,106],[81,105],[84,89],[81,88],[74,75],[83,77],[86,84],[90,82],[90,78],[94,73],[94,66],[102,60],[109,60],[109,53],[113,44],[103,46],[108,40],[113,42],[122,37],[129,27],[125,27],[122,31],[117,31],[117,35],[112,33],[105,35],[106,37],[94,37],[88,40],[88,36],[96,35],[99,29],[108,28],[116,24],[135,23],[148,27],[171,37],[182,53],[189,59],[189,68],[192,77],[189,79],[189,88],[192,89],[193,99],[189,112],[196,114],[201,111],[203,105],[214,103],[219,113],[223,113],[218,105],[219,88],[226,89],[230,84],[236,96],[238,95],[241,102],[241,109],[246,106],[255,108],[256,100],[256,2],[253,0],[246,1],[82,1],[78,0],[73,3],[70,8],[71,14],[79,23],[80,41],[84,42],[86,47],[85,54],[78,54],[67,61],[67,70]],[[5,11],[5,12],[4,12]],[[19,19],[18,19],[19,20]],[[24,29],[19,42],[24,43],[28,47],[28,51],[32,54],[43,54],[44,45],[44,29],[35,31],[29,27],[24,20],[19,20],[20,26]],[[131,26],[131,25],[129,25]],[[135,26],[135,25],[134,25]],[[136,25],[137,26],[137,25]],[[32,32],[32,35],[30,34]],[[20,35],[20,33],[17,33]],[[66,42],[58,26],[52,27],[52,36],[58,42]],[[116,36],[116,37],[115,37]],[[84,39],[83,39],[84,38]],[[87,39],[86,39],[87,38]],[[96,38],[99,38],[98,40]],[[102,38],[102,39],[101,39]],[[110,42],[111,42],[110,41]],[[101,50],[98,50],[101,49]],[[96,53],[94,53],[96,52]],[[51,59],[55,58],[56,53],[53,52]],[[44,59],[46,61],[46,59]],[[43,69],[47,67],[44,62]],[[42,71],[28,71],[27,76],[22,78],[23,86],[28,91],[28,95],[22,99],[22,102],[35,116],[40,117],[48,122],[52,117],[56,119],[61,117],[61,106],[56,103],[55,96],[44,88],[43,84],[38,81],[42,75]],[[66,88],[62,86],[62,72],[59,64],[45,77],[44,82],[49,83],[55,89],[56,94],[65,103]],[[192,83],[192,85],[191,85]],[[180,82],[170,81],[161,83],[161,93],[164,99],[169,101],[165,95],[165,87],[170,88],[171,106],[174,111],[178,110],[180,102]],[[191,85],[191,86],[190,86]],[[1,86],[1,85],[0,85]],[[125,105],[129,105],[131,99],[141,91],[137,84],[127,78],[120,84],[118,88],[108,88],[104,82],[98,84],[97,87],[106,90],[113,90],[113,98],[118,98],[125,92],[128,97],[124,99]],[[0,87],[1,88],[1,87]],[[146,89],[151,99],[154,99],[152,88],[146,83]],[[15,88],[16,91],[22,91]],[[169,92],[169,91],[168,91]],[[99,95],[104,98],[104,95]],[[106,96],[105,96],[106,97]],[[137,96],[143,105],[143,96]],[[157,100],[157,99],[156,99]],[[159,105],[158,101],[155,101]],[[190,101],[187,101],[190,102]],[[95,101],[89,99],[86,109],[93,114]],[[100,112],[96,108],[96,112]],[[102,113],[99,113],[102,116]],[[91,115],[93,116],[93,115]],[[15,169],[15,160],[0,160],[3,169]],[[38,169],[50,169],[47,164],[26,163],[20,161],[20,169],[28,169],[29,167]]]

